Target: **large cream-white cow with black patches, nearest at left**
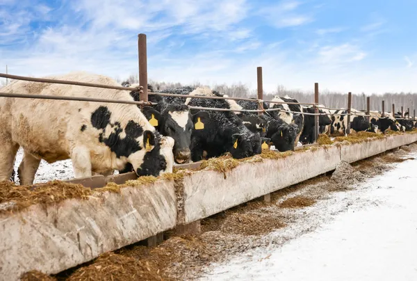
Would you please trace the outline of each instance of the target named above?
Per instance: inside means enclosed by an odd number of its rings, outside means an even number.
[[[109,77],[87,72],[46,78],[120,86]],[[28,81],[14,81],[2,91],[131,100],[126,90]],[[33,184],[41,159],[49,163],[71,159],[76,178],[107,175],[128,163],[138,176],[157,176],[172,172],[174,162],[174,140],[161,136],[134,104],[1,97],[0,141],[0,181],[9,179],[22,147],[17,174],[24,185]]]

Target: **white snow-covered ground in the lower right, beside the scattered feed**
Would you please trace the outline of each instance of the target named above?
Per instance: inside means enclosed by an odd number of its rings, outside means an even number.
[[[200,280],[417,280],[417,159],[395,166],[335,193],[339,204],[350,198],[347,211],[313,232],[213,264]]]

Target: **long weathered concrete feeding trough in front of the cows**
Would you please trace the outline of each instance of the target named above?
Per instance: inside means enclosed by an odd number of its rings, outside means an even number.
[[[18,280],[31,270],[54,274],[174,227],[192,225],[254,198],[268,195],[352,163],[417,142],[400,134],[361,143],[301,147],[279,157],[255,156],[218,171],[181,170],[152,182],[109,177],[108,190],[83,200],[32,204],[13,210],[0,204],[0,280]],[[269,152],[274,153],[274,152]],[[311,165],[309,163],[314,163]],[[198,165],[195,165],[197,168]],[[132,175],[120,175],[131,179]],[[101,180],[101,179],[100,179]],[[195,225],[196,229],[198,225]]]

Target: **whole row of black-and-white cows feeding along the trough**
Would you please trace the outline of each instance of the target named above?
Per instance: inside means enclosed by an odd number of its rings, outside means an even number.
[[[102,75],[72,72],[49,79],[120,86]],[[128,82],[122,86],[131,85]],[[149,91],[154,92],[151,86]],[[57,83],[13,81],[6,93],[82,96],[140,100],[138,90],[86,88]],[[263,115],[242,111],[258,109],[258,101],[227,99],[206,87],[172,88],[149,95],[152,106],[97,102],[56,101],[0,97],[0,182],[15,172],[17,150],[24,156],[17,170],[21,184],[33,184],[40,160],[52,163],[71,159],[75,177],[135,171],[138,176],[172,172],[174,163],[188,163],[231,154],[235,159],[261,154],[271,145],[284,152],[299,143],[313,143],[313,106],[301,106],[291,97],[263,102]],[[201,97],[224,97],[204,99]],[[211,109],[226,109],[215,111]],[[346,134],[347,111],[319,106],[320,134]],[[351,131],[410,131],[416,121],[386,113],[352,109]]]

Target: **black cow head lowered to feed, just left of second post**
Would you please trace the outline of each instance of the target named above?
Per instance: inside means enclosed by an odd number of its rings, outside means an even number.
[[[259,133],[233,134],[231,140],[229,152],[234,159],[243,159],[254,154],[261,154],[262,152],[261,136]]]

